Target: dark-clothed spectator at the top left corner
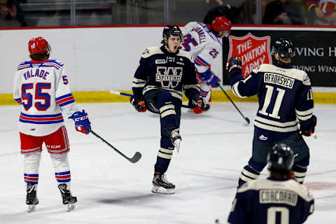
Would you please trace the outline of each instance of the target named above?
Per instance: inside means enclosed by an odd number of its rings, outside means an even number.
[[[20,0],[0,0],[0,18],[18,20],[20,27],[27,27],[25,15],[20,7]]]

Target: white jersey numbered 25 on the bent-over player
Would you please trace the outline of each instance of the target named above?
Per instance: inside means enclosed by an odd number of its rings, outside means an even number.
[[[211,69],[211,63],[222,52],[222,40],[207,25],[201,22],[188,22],[182,28],[183,43],[180,48],[190,52],[194,59],[197,72],[206,74]]]

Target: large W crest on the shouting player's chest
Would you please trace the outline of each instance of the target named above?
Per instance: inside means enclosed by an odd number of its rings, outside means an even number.
[[[182,80],[182,67],[156,67],[155,80],[161,83],[162,87],[173,88],[178,86]]]

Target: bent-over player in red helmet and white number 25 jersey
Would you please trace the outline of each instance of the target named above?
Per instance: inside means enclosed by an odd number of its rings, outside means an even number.
[[[197,82],[200,83],[200,95],[205,102],[211,97],[211,87],[218,87],[220,79],[211,72],[211,64],[222,52],[222,38],[228,37],[231,22],[224,16],[216,17],[211,24],[188,22],[183,27],[183,43],[181,49],[190,52],[197,70]],[[206,110],[209,109],[209,104]],[[197,111],[194,110],[195,113]]]

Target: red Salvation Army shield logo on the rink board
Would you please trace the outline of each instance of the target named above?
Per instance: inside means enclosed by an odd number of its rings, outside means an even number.
[[[272,64],[270,54],[270,36],[229,36],[230,59],[232,56],[241,58],[241,75],[246,78],[251,71],[261,64]]]

